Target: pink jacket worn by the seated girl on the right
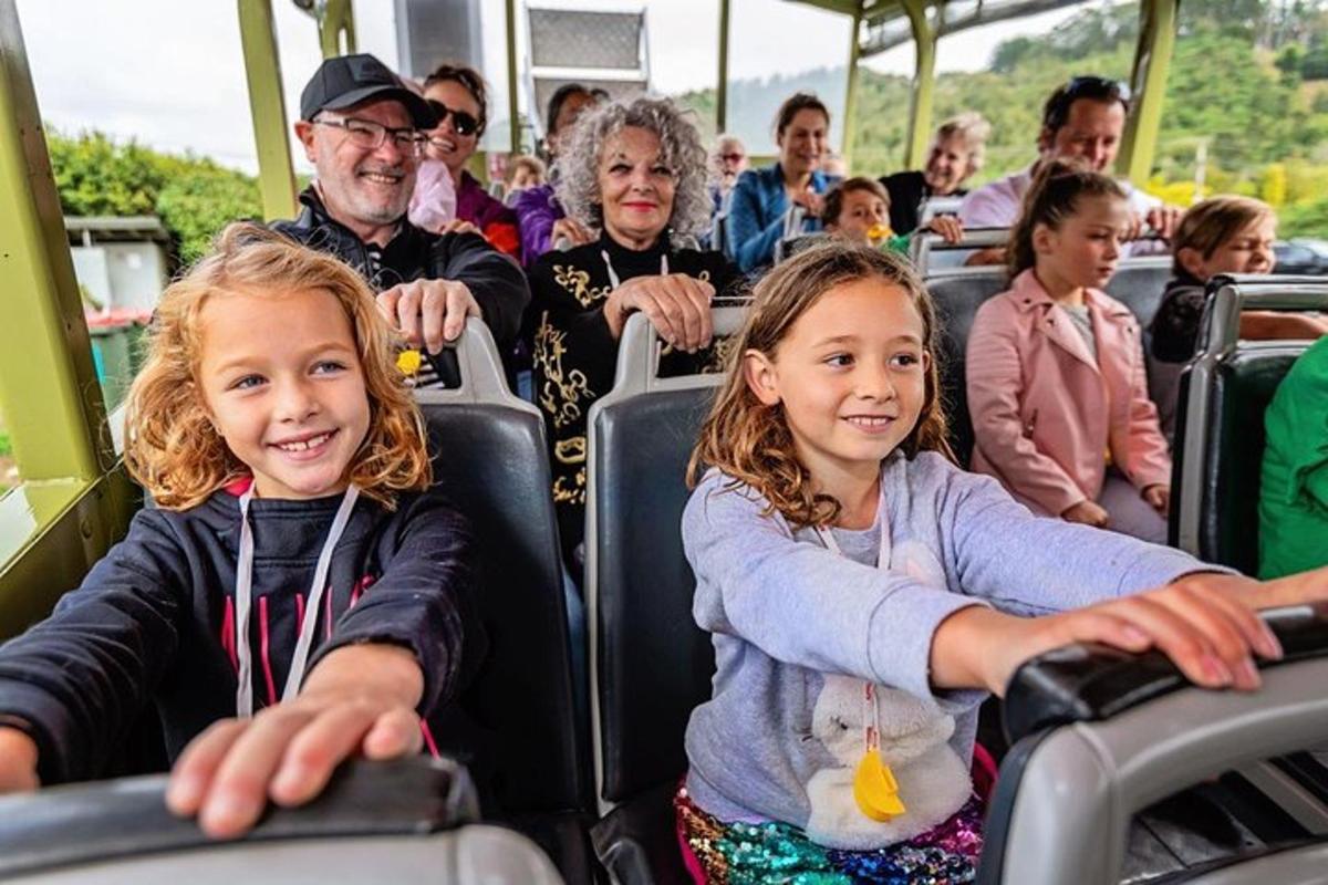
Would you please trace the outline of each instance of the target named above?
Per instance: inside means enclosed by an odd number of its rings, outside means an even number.
[[[1171,482],[1138,320],[1097,289],[1088,289],[1084,303],[1097,361],[1033,271],[988,299],[968,336],[972,468],[1053,516],[1098,499],[1108,451],[1139,490]]]

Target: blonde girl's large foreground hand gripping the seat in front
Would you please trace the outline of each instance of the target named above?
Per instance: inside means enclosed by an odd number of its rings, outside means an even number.
[[[390,645],[352,645],[323,658],[300,694],[252,719],[222,719],[175,760],[166,804],[198,816],[218,839],[239,836],[263,813],[309,801],[345,759],[418,752],[416,705],[424,675],[414,655]]]

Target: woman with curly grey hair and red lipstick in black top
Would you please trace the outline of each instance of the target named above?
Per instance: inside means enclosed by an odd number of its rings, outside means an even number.
[[[720,252],[681,245],[709,227],[710,196],[701,137],[667,98],[583,117],[558,157],[556,194],[598,236],[546,253],[530,271],[535,402],[571,561],[583,535],[586,415],[614,385],[628,314],[644,313],[667,344],[661,373],[695,372],[709,360],[710,300],[741,275]]]

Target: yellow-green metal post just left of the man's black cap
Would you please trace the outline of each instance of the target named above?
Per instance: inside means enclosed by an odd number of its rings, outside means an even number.
[[[276,54],[272,1],[239,0],[239,13],[263,215],[268,220],[295,218],[295,172],[291,170],[291,142],[286,134],[286,101],[282,98],[282,64]]]

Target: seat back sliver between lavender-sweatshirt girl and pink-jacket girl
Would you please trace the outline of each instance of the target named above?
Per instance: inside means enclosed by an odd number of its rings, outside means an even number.
[[[964,381],[968,333],[983,301],[1008,288],[1005,268],[977,267],[938,273],[927,279],[940,324],[940,402],[950,425],[950,446],[963,466],[973,454],[973,422],[968,414]]]

